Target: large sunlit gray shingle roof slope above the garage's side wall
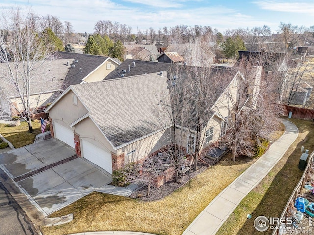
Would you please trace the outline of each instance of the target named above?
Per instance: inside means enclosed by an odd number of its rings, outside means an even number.
[[[162,129],[155,114],[169,94],[157,73],[71,86],[115,147]]]

